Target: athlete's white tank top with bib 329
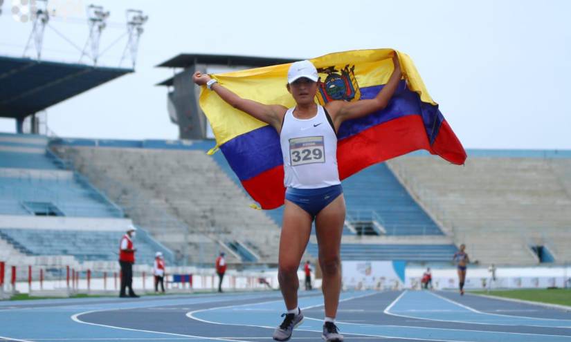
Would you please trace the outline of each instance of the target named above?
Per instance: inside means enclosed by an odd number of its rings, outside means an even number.
[[[341,184],[337,169],[337,135],[322,106],[311,119],[298,119],[289,108],[280,133],[284,185],[318,189]]]

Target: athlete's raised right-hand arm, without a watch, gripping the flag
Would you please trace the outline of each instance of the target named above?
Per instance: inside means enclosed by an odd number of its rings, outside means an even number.
[[[385,84],[374,99],[363,99],[357,102],[332,101],[325,105],[329,115],[332,116],[336,129],[338,129],[345,120],[363,117],[374,111],[380,111],[387,106],[390,98],[397,90],[402,76],[399,58],[396,52],[395,55],[392,56],[392,63],[395,64],[395,69],[392,71],[392,75],[390,75],[387,84]]]

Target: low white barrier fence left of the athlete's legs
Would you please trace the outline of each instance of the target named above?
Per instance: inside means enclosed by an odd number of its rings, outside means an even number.
[[[165,269],[166,292],[214,291],[218,289],[219,277],[215,269],[196,267],[167,267]],[[72,294],[118,293],[119,269],[96,269],[87,267],[42,267],[6,265],[0,261],[0,298],[10,294],[25,293],[37,296],[66,296]],[[155,278],[149,267],[134,267],[133,288],[135,292],[154,292]],[[223,290],[278,289],[277,272],[237,272],[228,270],[222,281]],[[160,288],[159,288],[160,290]],[[2,296],[3,294],[3,296]]]

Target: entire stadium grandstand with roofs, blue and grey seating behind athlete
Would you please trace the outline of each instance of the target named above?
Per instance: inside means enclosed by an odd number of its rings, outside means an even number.
[[[178,139],[103,140],[48,135],[37,113],[132,68],[0,57],[0,117],[17,127],[0,133],[0,261],[113,272],[118,240],[136,225],[141,265],[161,251],[186,267],[176,272],[198,272],[224,251],[232,269],[275,270],[283,208],[253,209],[224,155],[207,153],[215,141],[190,75],[293,60],[177,55],[158,64],[174,75],[157,85]],[[410,153],[343,180],[343,260],[450,268],[464,243],[484,267],[570,262],[571,152],[468,155],[458,168]],[[318,265],[313,231],[304,259]]]

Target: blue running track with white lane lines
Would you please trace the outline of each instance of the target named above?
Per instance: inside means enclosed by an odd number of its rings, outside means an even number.
[[[455,292],[343,292],[345,341],[568,341],[571,312]],[[292,341],[320,341],[323,297],[302,292]],[[279,292],[0,302],[0,341],[273,341]]]

